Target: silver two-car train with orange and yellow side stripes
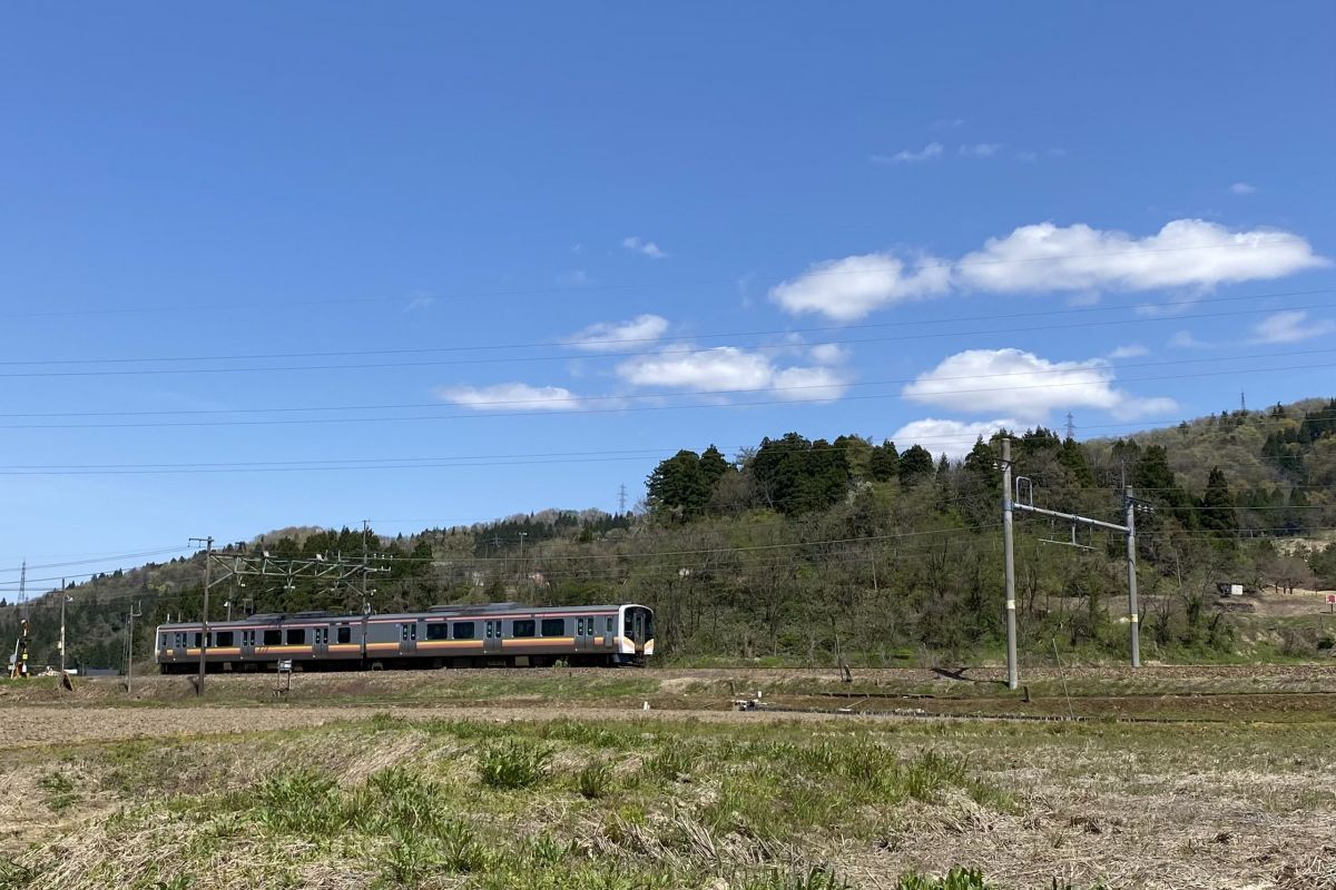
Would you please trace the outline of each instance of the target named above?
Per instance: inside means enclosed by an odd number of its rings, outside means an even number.
[[[644,666],[655,652],[653,610],[617,606],[532,607],[516,603],[433,606],[397,615],[293,612],[160,624],[155,634],[163,674],[377,670],[401,667]]]

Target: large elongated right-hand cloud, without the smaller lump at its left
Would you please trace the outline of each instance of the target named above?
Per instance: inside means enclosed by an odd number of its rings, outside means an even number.
[[[1156,235],[1134,238],[1085,224],[1022,226],[957,266],[962,288],[1015,291],[1144,291],[1209,288],[1272,279],[1329,266],[1308,242],[1288,232],[1232,232],[1217,223],[1177,219]]]

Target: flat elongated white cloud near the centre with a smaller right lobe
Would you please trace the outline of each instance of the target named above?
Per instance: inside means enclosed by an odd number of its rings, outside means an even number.
[[[681,346],[637,356],[619,364],[617,376],[637,387],[696,392],[776,390],[778,398],[794,402],[830,402],[842,396],[848,386],[831,368],[779,367],[760,352],[735,346],[699,351]]]

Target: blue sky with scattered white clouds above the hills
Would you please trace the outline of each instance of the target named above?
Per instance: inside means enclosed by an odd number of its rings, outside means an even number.
[[[1329,3],[0,29],[7,570],[615,508],[790,430],[957,452],[1336,388]]]

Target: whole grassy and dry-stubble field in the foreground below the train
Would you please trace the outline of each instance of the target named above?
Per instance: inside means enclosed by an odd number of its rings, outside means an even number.
[[[1124,683],[1246,691],[1221,671]],[[784,677],[493,673],[438,678],[424,703],[424,681],[386,675],[323,705],[250,702],[246,678],[220,678],[190,707],[167,689],[124,707],[28,687],[0,706],[0,889],[1336,886],[1323,710],[1161,725],[639,707]],[[1284,677],[1255,679],[1284,693]],[[1313,698],[1331,679],[1291,677]],[[417,697],[363,702],[395,683]]]

